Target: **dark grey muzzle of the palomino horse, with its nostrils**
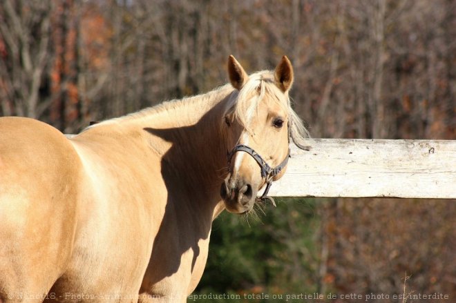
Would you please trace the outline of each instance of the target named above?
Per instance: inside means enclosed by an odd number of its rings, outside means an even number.
[[[254,206],[257,190],[243,179],[231,179],[230,176],[220,186],[220,196],[230,213],[246,213]]]

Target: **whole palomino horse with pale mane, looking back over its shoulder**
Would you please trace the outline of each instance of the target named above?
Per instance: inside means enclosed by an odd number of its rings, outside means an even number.
[[[185,302],[213,219],[248,213],[285,172],[289,137],[305,142],[287,57],[247,75],[230,56],[228,72],[70,139],[0,119],[0,302]]]

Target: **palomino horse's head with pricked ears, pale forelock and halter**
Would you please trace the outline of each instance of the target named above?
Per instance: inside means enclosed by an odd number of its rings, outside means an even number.
[[[258,190],[279,179],[287,166],[289,136],[299,146],[307,134],[290,106],[288,91],[293,68],[287,57],[273,72],[247,75],[240,63],[229,57],[228,72],[235,90],[225,109],[229,173],[220,195],[231,213],[247,213]],[[266,190],[267,190],[266,189]]]

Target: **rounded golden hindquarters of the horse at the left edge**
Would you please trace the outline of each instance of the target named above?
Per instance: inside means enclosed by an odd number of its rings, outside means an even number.
[[[0,118],[0,298],[7,292],[13,300],[21,299],[18,293],[45,295],[64,271],[80,170],[77,153],[57,129],[28,118]]]

